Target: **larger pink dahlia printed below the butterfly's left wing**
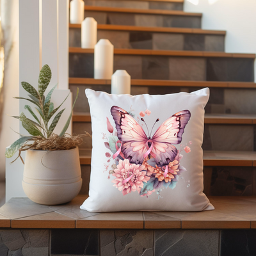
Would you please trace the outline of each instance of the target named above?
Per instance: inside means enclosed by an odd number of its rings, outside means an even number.
[[[131,164],[128,159],[119,160],[112,180],[113,186],[122,191],[123,195],[131,193],[131,191],[140,191],[143,188],[143,182],[147,182],[150,177],[146,176],[147,172],[143,171],[143,165]],[[130,178],[130,179],[129,179]]]

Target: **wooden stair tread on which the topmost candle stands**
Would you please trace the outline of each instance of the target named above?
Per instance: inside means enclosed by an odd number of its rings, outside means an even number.
[[[69,24],[69,28],[81,29],[81,24]],[[180,34],[200,34],[200,35],[226,35],[223,30],[206,30],[198,28],[164,28],[164,27],[140,27],[140,26],[122,26],[98,24],[100,30],[117,30],[117,31],[146,31],[159,33],[180,33]]]

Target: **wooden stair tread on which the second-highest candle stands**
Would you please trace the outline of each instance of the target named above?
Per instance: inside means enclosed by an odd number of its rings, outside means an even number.
[[[70,53],[93,54],[94,49],[83,49],[80,47],[69,47]],[[114,49],[114,54],[122,55],[150,55],[150,56],[186,56],[186,57],[214,57],[214,58],[251,58],[256,54],[227,53],[227,52],[205,52],[205,51],[163,51],[142,49]]]

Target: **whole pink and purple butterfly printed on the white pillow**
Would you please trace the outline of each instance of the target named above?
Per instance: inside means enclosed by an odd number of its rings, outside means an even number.
[[[123,143],[121,151],[130,163],[143,163],[143,154],[152,146],[150,155],[155,158],[158,166],[164,166],[172,162],[177,155],[177,148],[172,144],[182,141],[182,134],[191,113],[189,110],[183,110],[174,114],[159,126],[152,138],[145,134],[141,125],[124,109],[113,106],[111,115],[116,124],[118,139]],[[141,120],[145,122],[143,118]],[[156,122],[159,122],[159,119]]]

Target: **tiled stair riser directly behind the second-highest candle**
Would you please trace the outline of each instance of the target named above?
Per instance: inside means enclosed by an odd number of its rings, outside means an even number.
[[[170,51],[225,51],[224,35],[152,33],[143,31],[98,30],[98,40],[108,39],[115,49]],[[81,47],[81,29],[69,29],[69,46]]]

